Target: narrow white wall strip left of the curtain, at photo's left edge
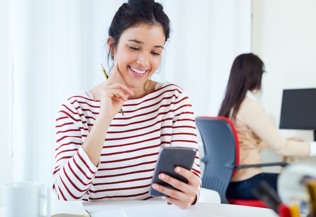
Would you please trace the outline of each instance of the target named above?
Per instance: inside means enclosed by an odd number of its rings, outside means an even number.
[[[12,180],[12,157],[9,136],[9,107],[10,107],[10,91],[9,91],[9,0],[0,1],[0,206],[3,203],[2,186],[6,182]]]

